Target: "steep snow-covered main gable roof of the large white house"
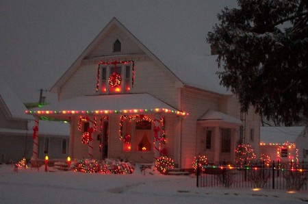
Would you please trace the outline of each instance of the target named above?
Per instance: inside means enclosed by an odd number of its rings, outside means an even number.
[[[177,23],[180,23],[180,21],[180,19],[175,19]],[[203,21],[206,21],[206,19]],[[125,31],[134,42],[139,44],[144,53],[147,53],[155,62],[165,66],[184,86],[201,88],[218,94],[231,94],[227,88],[220,85],[220,79],[216,74],[218,71],[217,55],[209,55],[205,51],[205,47],[208,46],[206,44],[206,34],[211,27],[204,28],[202,27],[203,24],[198,25],[198,23],[200,23],[200,20],[194,22],[194,26],[190,28],[194,30],[189,32],[189,36],[183,36],[183,31],[181,32],[180,27],[172,29],[171,26],[164,31],[159,31],[158,36],[161,36],[161,38],[156,38],[156,32],[146,30],[148,26],[142,25],[147,24],[147,22],[142,21],[142,19],[139,19],[138,25],[136,25],[131,21],[126,21],[126,19],[118,21],[117,18],[112,18],[112,21],[106,25],[105,29],[116,25]],[[101,41],[106,32],[105,29],[101,31],[97,38],[92,41],[51,88],[53,92],[57,90],[57,87],[65,83],[66,78],[73,75],[81,60]]]

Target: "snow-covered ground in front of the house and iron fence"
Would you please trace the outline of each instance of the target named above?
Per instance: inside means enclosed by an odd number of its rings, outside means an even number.
[[[48,168],[48,170],[54,170]],[[196,188],[196,177],[44,172],[0,165],[0,203],[307,203],[307,192]]]

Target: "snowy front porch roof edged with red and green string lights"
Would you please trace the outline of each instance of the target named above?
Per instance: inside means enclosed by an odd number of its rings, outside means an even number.
[[[166,112],[179,116],[188,115],[187,112],[177,110],[146,93],[75,97],[25,111],[26,114],[38,116],[144,114],[146,112]]]

